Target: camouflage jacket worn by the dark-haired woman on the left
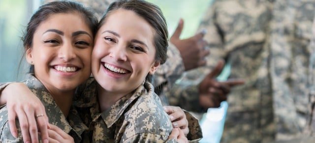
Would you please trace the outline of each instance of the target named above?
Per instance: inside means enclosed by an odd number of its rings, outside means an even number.
[[[64,116],[61,109],[56,104],[52,95],[48,92],[40,81],[38,81],[33,75],[26,76],[27,80],[24,82],[32,92],[39,98],[39,100],[45,106],[46,114],[49,118],[49,123],[58,126],[65,133],[69,134],[75,141],[75,143],[81,142],[81,134],[88,129],[88,127],[81,120],[78,112],[71,107],[67,117]],[[1,89],[5,86],[0,86]],[[0,89],[0,90],[1,90]],[[11,135],[8,124],[8,113],[6,106],[2,106],[0,109],[0,142],[2,143],[23,143],[21,128],[19,121],[16,120],[16,126],[18,129],[18,138]]]

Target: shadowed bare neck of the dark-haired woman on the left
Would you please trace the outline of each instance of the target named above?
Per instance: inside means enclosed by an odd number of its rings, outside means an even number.
[[[70,107],[72,104],[72,98],[74,95],[74,90],[70,91],[53,91],[53,90],[48,90],[51,95],[53,96],[56,104],[58,107],[61,109],[63,112],[64,116],[68,116]]]

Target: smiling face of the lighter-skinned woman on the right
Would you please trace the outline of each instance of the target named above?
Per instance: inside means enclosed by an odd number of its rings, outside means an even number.
[[[131,92],[153,74],[155,30],[133,11],[111,12],[97,31],[92,53],[92,73],[106,91]]]

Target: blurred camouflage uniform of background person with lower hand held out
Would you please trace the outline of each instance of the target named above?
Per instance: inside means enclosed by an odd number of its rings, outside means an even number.
[[[200,25],[208,31],[204,37],[211,53],[206,57],[207,65],[187,72],[169,95],[172,105],[202,110],[198,99],[200,81],[219,60],[229,62],[230,78],[241,78],[246,83],[232,88],[228,96],[223,143],[274,140],[269,49],[265,47],[272,4],[268,0],[214,1]],[[183,100],[187,98],[190,100]]]

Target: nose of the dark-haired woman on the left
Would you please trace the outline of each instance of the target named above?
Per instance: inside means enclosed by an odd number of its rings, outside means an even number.
[[[63,62],[68,62],[76,57],[75,47],[71,43],[64,43],[59,49],[59,58],[63,59]]]

